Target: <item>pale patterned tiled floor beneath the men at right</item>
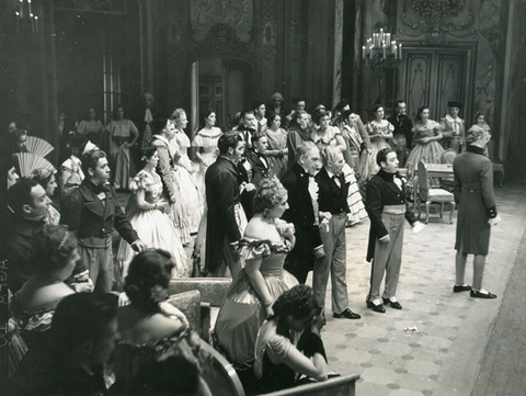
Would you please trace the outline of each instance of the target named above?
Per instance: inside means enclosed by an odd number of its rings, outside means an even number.
[[[524,193],[524,185],[496,190],[502,223],[492,230],[484,286],[499,296],[526,229]],[[373,313],[365,306],[368,229],[366,220],[346,230],[350,304],[362,319],[333,319],[328,291],[322,336],[331,369],[359,373],[358,395],[470,395],[502,298],[479,301],[451,292],[456,224],[434,214],[421,234],[412,234],[409,225],[405,229],[398,288],[403,309]],[[471,284],[468,263],[466,281]],[[405,332],[409,327],[418,331]]]

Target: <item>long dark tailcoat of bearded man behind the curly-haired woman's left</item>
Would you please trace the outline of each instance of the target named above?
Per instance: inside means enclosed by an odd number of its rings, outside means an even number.
[[[239,262],[230,244],[241,239],[238,226],[239,182],[233,162],[218,157],[205,173],[208,224],[206,229],[206,271],[215,274]]]

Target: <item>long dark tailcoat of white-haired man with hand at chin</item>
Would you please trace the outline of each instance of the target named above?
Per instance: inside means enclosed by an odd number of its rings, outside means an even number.
[[[285,260],[285,269],[305,283],[315,264],[313,250],[322,246],[317,217],[309,194],[309,176],[295,163],[282,178],[288,192],[289,208],[283,218],[296,228],[296,245]]]

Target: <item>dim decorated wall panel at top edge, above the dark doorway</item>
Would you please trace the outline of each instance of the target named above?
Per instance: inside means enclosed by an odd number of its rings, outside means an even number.
[[[203,42],[216,24],[230,26],[242,43],[252,39],[252,0],[192,0],[190,7],[195,42]]]

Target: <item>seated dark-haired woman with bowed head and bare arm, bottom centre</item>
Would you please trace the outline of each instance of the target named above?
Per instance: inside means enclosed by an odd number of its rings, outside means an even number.
[[[306,285],[293,287],[277,298],[273,309],[274,315],[265,320],[258,335],[254,363],[258,381],[247,393],[293,387],[298,384],[298,375],[325,381],[327,358],[320,337],[321,307],[312,295],[312,288]],[[308,342],[298,340],[300,331],[304,331],[301,338],[308,338]]]

